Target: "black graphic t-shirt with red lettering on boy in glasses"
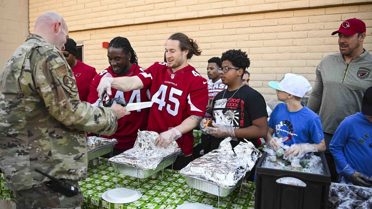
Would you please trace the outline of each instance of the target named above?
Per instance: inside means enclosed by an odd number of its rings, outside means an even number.
[[[232,125],[234,128],[247,128],[252,125],[253,120],[263,116],[268,117],[263,96],[247,85],[238,90],[228,91],[226,89],[219,92],[213,100],[212,107],[213,120],[218,125]],[[211,150],[213,150],[218,148],[219,142],[223,138],[212,136],[211,140]],[[238,138],[238,140],[244,142],[241,138]],[[257,139],[247,140],[257,147]],[[235,147],[233,143],[232,145]]]

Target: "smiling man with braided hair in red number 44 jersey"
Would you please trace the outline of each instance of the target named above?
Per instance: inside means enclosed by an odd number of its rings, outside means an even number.
[[[138,59],[131,43],[127,38],[115,37],[110,41],[107,51],[107,57],[110,66],[106,70],[101,71],[96,75],[90,85],[90,93],[88,102],[94,106],[98,106],[101,97],[98,96],[97,86],[106,74],[111,75],[113,78],[119,77],[132,77],[145,71],[138,65]],[[128,103],[147,102],[146,89],[138,89],[132,91],[119,91],[111,88],[110,98],[121,97]],[[147,109],[140,109],[132,111],[130,115],[118,120],[118,129],[115,134],[111,136],[103,136],[104,138],[117,139],[118,144],[115,145],[112,156],[121,154],[127,149],[133,147],[137,138],[137,131],[144,131],[147,126],[148,112]],[[110,154],[103,157],[110,157]]]

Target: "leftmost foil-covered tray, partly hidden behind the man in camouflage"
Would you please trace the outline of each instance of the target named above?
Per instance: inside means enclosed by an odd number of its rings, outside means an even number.
[[[115,144],[118,144],[118,140],[116,139],[105,139],[97,136],[89,136],[87,138],[88,161],[112,152]]]

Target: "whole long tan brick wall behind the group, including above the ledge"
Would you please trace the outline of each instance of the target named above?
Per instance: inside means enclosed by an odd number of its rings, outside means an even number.
[[[183,32],[203,50],[202,56],[189,62],[203,76],[209,58],[233,48],[247,51],[251,60],[250,84],[266,100],[276,99],[275,90],[267,82],[280,80],[285,73],[304,75],[314,83],[319,61],[339,50],[337,35],[331,36],[331,32],[343,20],[356,17],[365,21],[364,48],[372,49],[372,1],[369,4],[358,0],[37,2],[30,0],[30,30],[44,10],[59,12],[67,21],[70,37],[84,42],[85,62],[97,71],[108,67],[107,49],[102,48],[102,42],[110,42],[116,36],[128,38],[140,65],[146,68],[155,61],[163,61],[164,44],[172,33]]]

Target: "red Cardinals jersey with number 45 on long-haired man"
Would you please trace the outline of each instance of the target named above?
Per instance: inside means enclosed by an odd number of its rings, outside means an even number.
[[[180,125],[191,115],[203,117],[208,102],[207,80],[191,65],[173,71],[166,62],[151,65],[138,74],[145,89],[150,89],[154,102],[150,108],[148,131],[158,133]],[[177,139],[186,156],[192,154],[194,137],[192,131]]]

